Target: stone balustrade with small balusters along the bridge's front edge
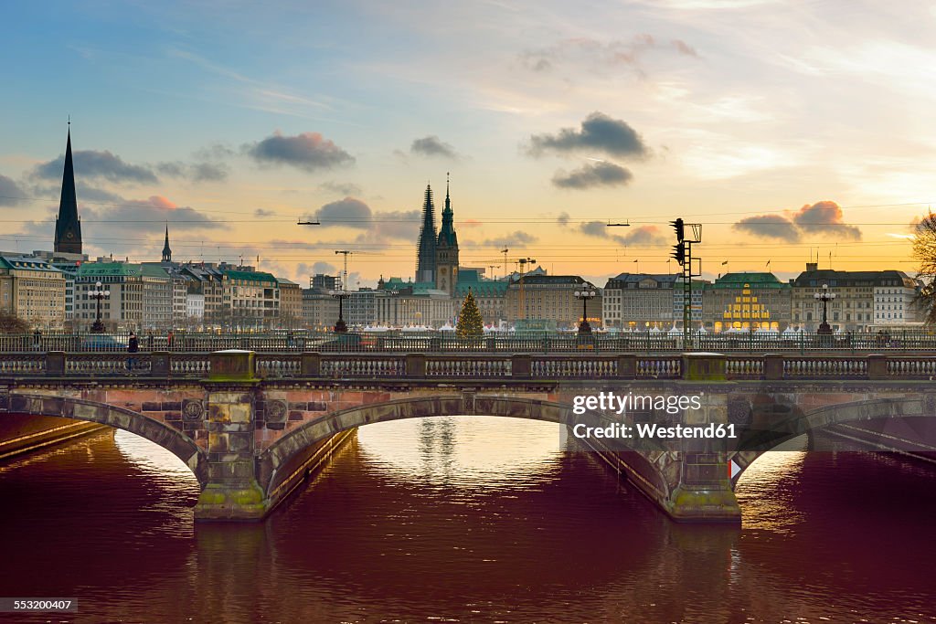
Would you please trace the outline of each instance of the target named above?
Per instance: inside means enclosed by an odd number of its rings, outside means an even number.
[[[258,353],[264,379],[682,379],[684,355],[604,354],[340,354]],[[907,355],[726,355],[728,380],[936,380],[936,356]],[[144,376],[205,379],[211,354],[66,353],[0,354],[0,382],[22,378]]]

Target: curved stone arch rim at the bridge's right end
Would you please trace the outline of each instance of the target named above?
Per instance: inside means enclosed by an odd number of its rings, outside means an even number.
[[[877,420],[890,417],[933,417],[936,414],[929,409],[923,393],[907,397],[887,399],[864,399],[826,405],[809,412],[798,408],[791,410],[791,416],[785,420],[771,424],[771,428],[781,432],[765,443],[763,448],[752,451],[738,451],[729,454],[729,459],[739,466],[739,472],[732,478],[732,486],[738,484],[741,475],[751,464],[768,451],[782,443],[788,442],[801,435],[812,437],[814,431],[833,425],[860,422],[864,420]],[[812,450],[812,444],[811,444]]]

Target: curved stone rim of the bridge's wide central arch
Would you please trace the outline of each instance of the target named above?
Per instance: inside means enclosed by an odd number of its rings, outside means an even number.
[[[542,399],[527,399],[495,395],[441,395],[395,399],[366,403],[353,408],[325,414],[290,432],[273,443],[258,457],[259,485],[267,492],[290,478],[298,458],[314,444],[342,431],[372,423],[426,416],[485,415],[539,420],[562,425],[593,422],[599,425],[603,414],[574,414],[572,405]],[[606,421],[607,424],[607,421]],[[559,439],[556,440],[557,447]],[[650,459],[636,456],[641,464],[641,476],[668,494],[670,486]]]

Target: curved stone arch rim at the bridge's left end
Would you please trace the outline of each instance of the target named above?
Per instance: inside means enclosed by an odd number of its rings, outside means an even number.
[[[202,486],[207,482],[208,456],[205,450],[182,431],[139,412],[88,399],[10,393],[7,413],[58,416],[129,431],[182,459]]]

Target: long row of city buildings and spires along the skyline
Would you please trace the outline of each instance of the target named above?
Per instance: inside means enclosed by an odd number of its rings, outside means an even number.
[[[455,325],[471,292],[488,325],[575,327],[582,318],[580,291],[595,294],[586,316],[593,327],[631,330],[681,326],[679,275],[622,273],[599,288],[579,276],[548,275],[542,268],[488,279],[483,268],[461,267],[454,211],[446,184],[442,225],[436,231],[427,185],[417,240],[417,281],[381,277],[375,288],[342,290],[341,280],[316,275],[308,288],[252,267],[172,260],[169,231],[159,262],[111,258],[91,262],[82,254],[71,133],[66,145],[62,198],[52,252],[0,252],[0,312],[34,327],[84,329],[98,313],[115,330],[173,328],[328,328],[339,313],[350,327]],[[528,260],[528,259],[527,259]],[[107,297],[95,297],[97,283]],[[923,320],[916,305],[921,284],[897,270],[836,271],[815,263],[789,282],[772,273],[740,272],[691,287],[691,319],[711,331],[730,327],[815,329],[823,286],[829,324],[841,330],[909,327]],[[333,293],[340,291],[341,300]],[[99,300],[98,300],[99,299]],[[100,311],[98,312],[98,306]],[[341,306],[341,311],[340,311]]]

